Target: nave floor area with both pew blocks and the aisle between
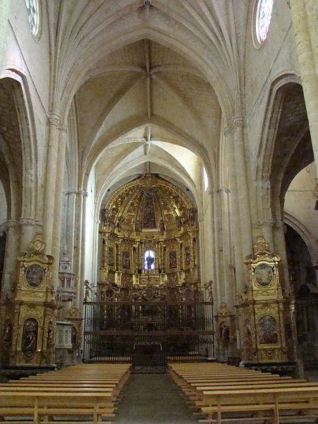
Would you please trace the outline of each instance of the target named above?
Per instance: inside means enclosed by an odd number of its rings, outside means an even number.
[[[4,424],[305,424],[318,384],[222,363],[175,363],[162,374],[84,364],[0,386]]]

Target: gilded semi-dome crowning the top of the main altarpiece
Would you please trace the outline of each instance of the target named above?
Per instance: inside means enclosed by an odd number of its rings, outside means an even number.
[[[195,208],[179,187],[156,175],[143,175],[114,192],[101,221],[126,235],[175,233],[195,225]]]

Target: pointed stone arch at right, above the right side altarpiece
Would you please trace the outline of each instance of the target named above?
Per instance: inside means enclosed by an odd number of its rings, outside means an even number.
[[[257,213],[261,219],[280,221],[288,185],[313,160],[305,100],[295,74],[285,74],[273,81],[261,133],[260,160],[255,168]],[[301,144],[305,146],[305,155],[299,155]]]

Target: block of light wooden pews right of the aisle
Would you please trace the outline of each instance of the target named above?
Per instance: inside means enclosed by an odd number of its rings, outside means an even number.
[[[201,423],[317,423],[318,384],[220,363],[170,364]]]

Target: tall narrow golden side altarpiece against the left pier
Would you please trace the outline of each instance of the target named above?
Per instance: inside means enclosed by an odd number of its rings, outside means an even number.
[[[41,234],[30,242],[30,253],[18,257],[18,283],[4,320],[3,349],[10,367],[54,365],[57,311],[52,264]]]

